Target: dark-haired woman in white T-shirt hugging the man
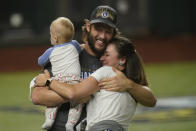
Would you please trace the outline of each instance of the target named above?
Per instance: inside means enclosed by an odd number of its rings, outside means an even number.
[[[100,60],[103,67],[81,83],[69,85],[48,80],[47,85],[51,90],[70,100],[79,100],[92,95],[87,105],[86,130],[113,130],[114,127],[115,130],[128,130],[136,109],[136,101],[128,92],[100,90],[98,83],[103,78],[115,76],[116,73],[112,69],[114,67],[134,82],[148,86],[140,57],[127,38],[115,37],[108,44]],[[43,83],[45,81],[43,80]],[[43,86],[43,83],[39,83],[40,86]]]

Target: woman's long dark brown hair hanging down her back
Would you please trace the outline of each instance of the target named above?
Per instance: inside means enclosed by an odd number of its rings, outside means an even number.
[[[128,38],[116,36],[109,44],[116,47],[119,58],[126,58],[126,63],[123,65],[125,75],[138,84],[148,86],[142,59],[137,54],[132,42]]]

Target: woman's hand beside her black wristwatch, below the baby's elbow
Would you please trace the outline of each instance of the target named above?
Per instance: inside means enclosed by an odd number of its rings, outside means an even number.
[[[35,79],[35,86],[43,87],[46,84],[46,81],[50,78],[50,73],[48,70],[44,70],[44,74],[39,74]]]

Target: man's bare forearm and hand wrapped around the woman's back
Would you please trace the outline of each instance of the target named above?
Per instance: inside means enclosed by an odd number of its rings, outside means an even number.
[[[133,98],[140,104],[148,107],[154,107],[156,104],[156,97],[146,86],[139,85],[128,79],[121,71],[113,69],[116,76],[112,78],[103,79],[99,83],[99,87],[108,91],[128,91]]]

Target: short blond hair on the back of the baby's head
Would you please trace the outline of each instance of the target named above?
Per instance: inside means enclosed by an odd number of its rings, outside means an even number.
[[[73,23],[66,17],[58,17],[51,23],[51,28],[53,28],[57,36],[64,42],[71,41],[74,37]]]

